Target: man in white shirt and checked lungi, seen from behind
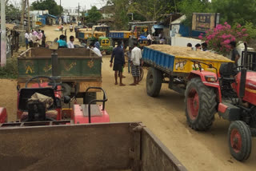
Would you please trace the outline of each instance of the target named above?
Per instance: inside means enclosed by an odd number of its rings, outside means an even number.
[[[138,85],[140,75],[140,60],[142,58],[142,50],[138,48],[138,42],[134,42],[134,49],[131,50],[131,74],[134,77],[134,83],[130,85]]]

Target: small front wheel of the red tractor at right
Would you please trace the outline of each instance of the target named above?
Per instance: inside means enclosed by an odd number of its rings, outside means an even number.
[[[250,157],[251,133],[244,121],[232,121],[228,131],[231,155],[238,161],[246,161]]]

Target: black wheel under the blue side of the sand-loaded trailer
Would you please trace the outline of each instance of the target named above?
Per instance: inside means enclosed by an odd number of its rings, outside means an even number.
[[[157,97],[162,87],[162,72],[150,67],[146,75],[146,93],[151,97]]]

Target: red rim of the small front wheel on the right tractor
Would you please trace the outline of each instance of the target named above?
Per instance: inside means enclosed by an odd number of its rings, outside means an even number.
[[[232,129],[230,135],[230,145],[235,153],[239,153],[242,149],[242,137],[238,129]]]

